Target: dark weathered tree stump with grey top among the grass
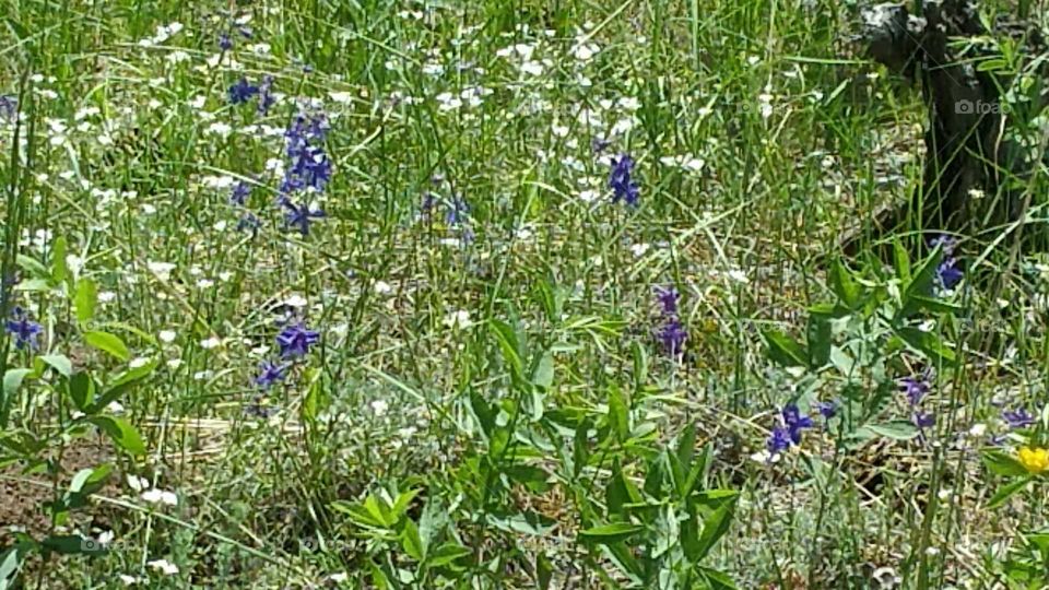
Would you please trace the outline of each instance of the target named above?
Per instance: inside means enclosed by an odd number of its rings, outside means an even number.
[[[864,11],[870,56],[918,81],[928,106],[922,186],[910,202],[894,204],[875,219],[874,238],[910,223],[922,231],[969,233],[1015,221],[1023,210],[1010,177],[1023,177],[1024,161],[1006,140],[1000,88],[1009,80],[980,71],[978,38],[1018,34],[1042,44],[1035,27],[988,31],[969,0],[926,1],[921,15],[898,4]],[[1007,25],[1003,25],[1007,26]],[[957,43],[969,40],[973,43]],[[954,42],[954,43],[952,43]],[[1028,168],[1029,170],[1029,168]],[[986,196],[986,198],[980,198]],[[842,249],[854,255],[859,235],[846,234]]]

